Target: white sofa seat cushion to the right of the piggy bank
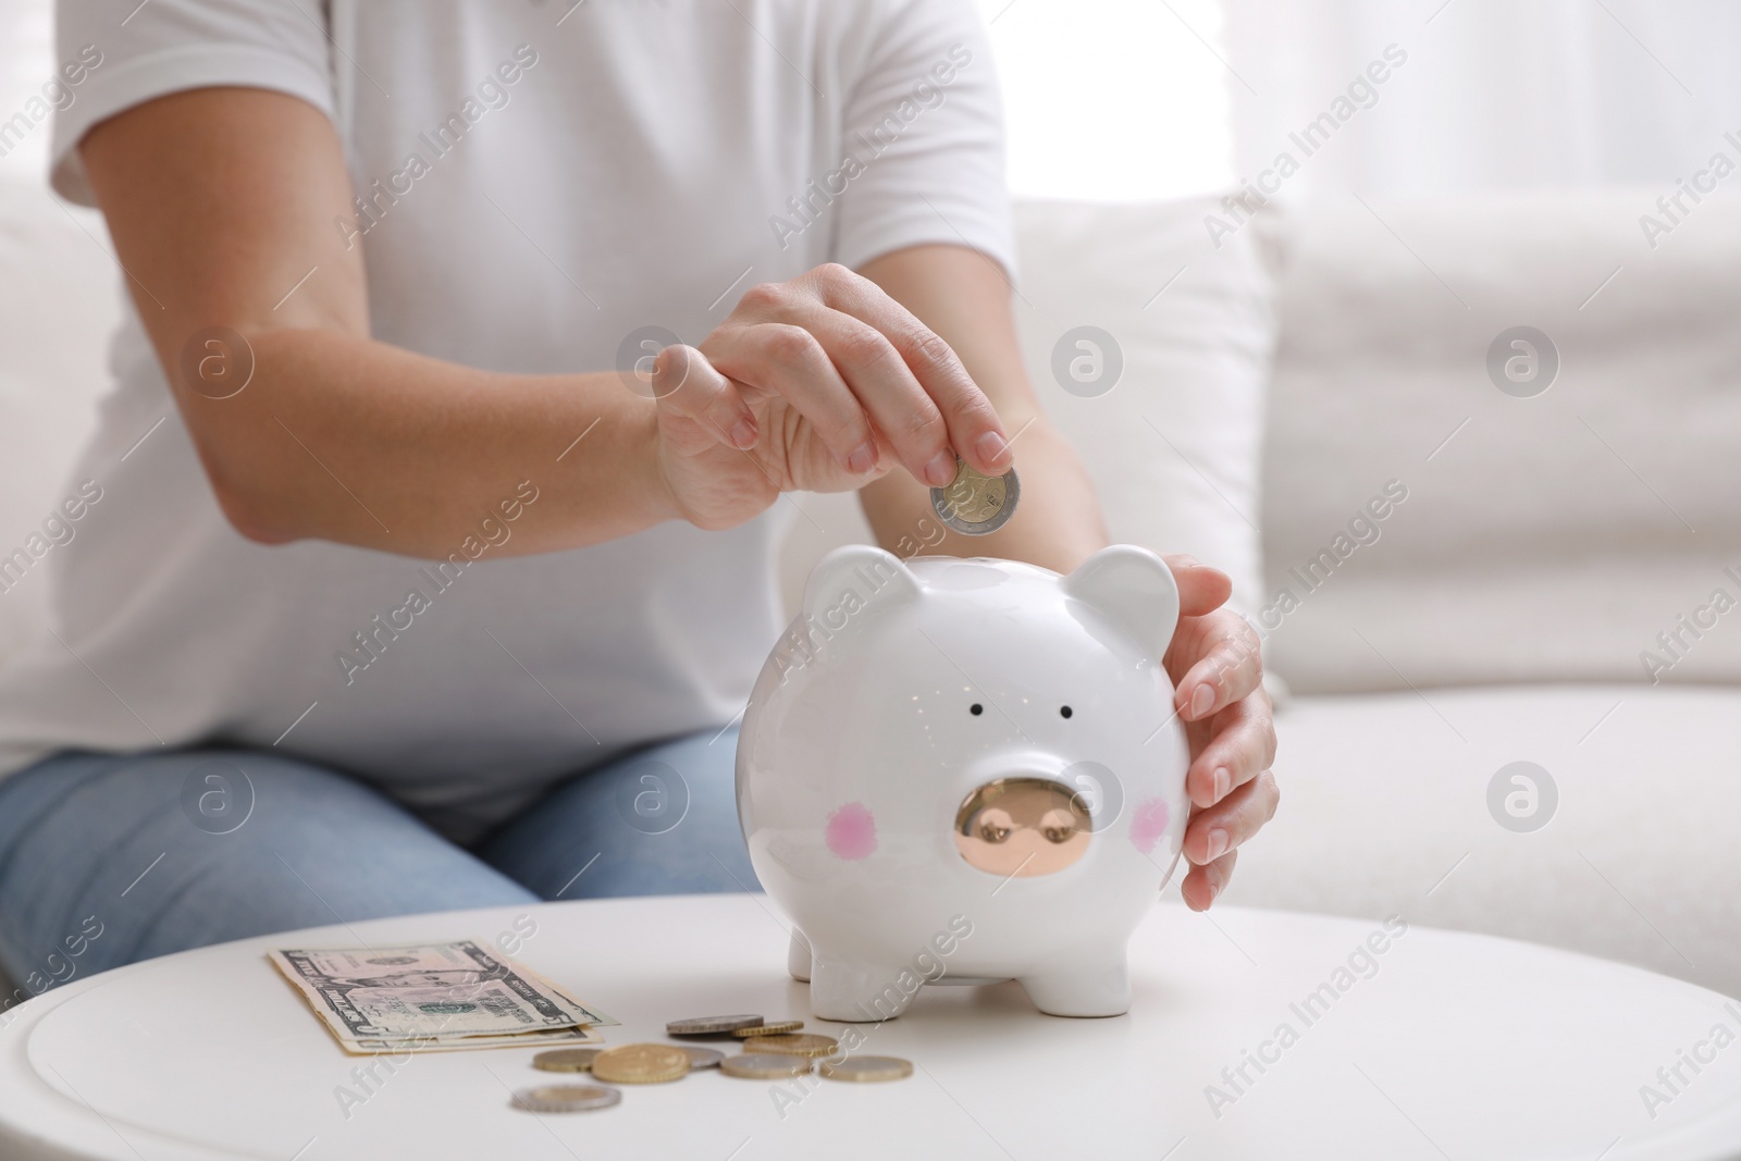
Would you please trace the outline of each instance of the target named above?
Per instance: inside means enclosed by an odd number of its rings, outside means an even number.
[[[1424,693],[1290,701],[1276,719],[1281,808],[1220,902],[1400,914],[1741,996],[1741,689]],[[1558,789],[1527,834],[1487,806],[1515,761]]]

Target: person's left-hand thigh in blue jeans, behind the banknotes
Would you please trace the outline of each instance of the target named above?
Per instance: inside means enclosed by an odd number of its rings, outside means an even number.
[[[296,759],[66,755],[26,773],[17,790],[35,823],[0,848],[9,975],[64,954],[92,921],[103,935],[78,957],[87,971],[268,931],[536,902],[392,801]],[[9,797],[0,783],[0,809]]]

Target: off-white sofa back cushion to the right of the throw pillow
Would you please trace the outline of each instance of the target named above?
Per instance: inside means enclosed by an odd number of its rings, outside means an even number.
[[[1663,681],[1741,681],[1741,609],[1697,613],[1741,601],[1741,202],[1650,249],[1659,193],[1295,212],[1264,491],[1267,594],[1301,601],[1269,656],[1295,691],[1645,681],[1680,614],[1717,625]],[[1562,360],[1534,399],[1485,366],[1516,325]],[[1393,479],[1379,541],[1307,592],[1290,569]]]

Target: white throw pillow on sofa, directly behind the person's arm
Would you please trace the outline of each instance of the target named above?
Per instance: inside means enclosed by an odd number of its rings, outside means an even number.
[[[1203,216],[1213,205],[1208,197],[1018,202],[1015,319],[1039,400],[1083,458],[1112,540],[1189,552],[1224,569],[1234,607],[1250,613],[1262,576],[1259,458],[1273,280],[1254,232],[1219,251],[1210,244]],[[1119,379],[1099,395],[1067,392],[1053,374],[1059,341],[1079,325],[1111,334],[1121,355]],[[1067,357],[1083,355],[1092,352],[1067,345]],[[782,557],[794,613],[823,552],[872,540],[855,496],[806,494],[799,503]]]

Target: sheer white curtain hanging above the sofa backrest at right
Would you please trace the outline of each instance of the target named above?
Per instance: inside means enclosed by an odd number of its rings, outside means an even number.
[[[1673,190],[1713,153],[1741,162],[1732,0],[1224,3],[1234,167],[1287,195]]]

